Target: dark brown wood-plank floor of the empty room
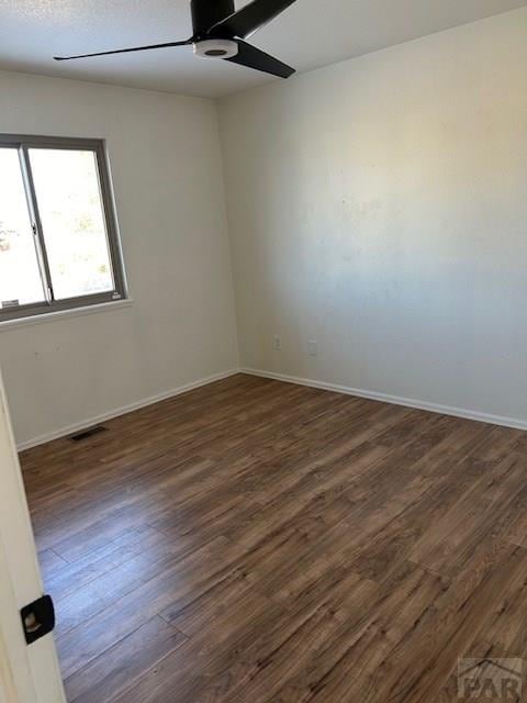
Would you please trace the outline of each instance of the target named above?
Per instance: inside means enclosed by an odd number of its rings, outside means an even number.
[[[527,656],[527,434],[236,376],[22,455],[82,703],[457,701]]]

